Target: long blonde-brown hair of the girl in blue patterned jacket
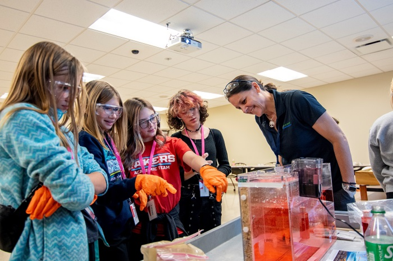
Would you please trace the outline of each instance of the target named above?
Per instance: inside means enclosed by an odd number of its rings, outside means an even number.
[[[77,77],[81,76],[83,72],[82,63],[59,45],[51,42],[39,42],[31,46],[20,58],[11,83],[11,90],[1,105],[0,112],[16,103],[30,103],[37,108],[18,107],[10,110],[1,119],[0,128],[16,111],[32,110],[50,117],[50,110],[53,109],[54,120],[52,122],[56,134],[60,138],[60,144],[69,147],[65,134],[73,131],[74,153],[77,155],[78,132],[83,125],[86,104],[86,91],[82,80],[77,82]],[[74,86],[74,88],[70,88],[68,110],[61,122],[59,122],[57,115],[57,100],[54,95],[55,81],[53,78],[58,75],[68,75],[69,83]],[[77,86],[79,85],[83,91],[81,95],[77,96]],[[66,124],[69,129],[62,130],[61,127]],[[75,156],[75,160],[78,163],[78,157]]]

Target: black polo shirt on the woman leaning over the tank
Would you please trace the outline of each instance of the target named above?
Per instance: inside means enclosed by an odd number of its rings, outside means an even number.
[[[278,132],[269,127],[265,114],[255,116],[255,121],[274,154],[283,158],[283,165],[292,159],[322,158],[323,163],[331,164],[333,192],[340,190],[342,178],[333,145],[312,128],[326,109],[307,92],[269,92],[274,97]]]

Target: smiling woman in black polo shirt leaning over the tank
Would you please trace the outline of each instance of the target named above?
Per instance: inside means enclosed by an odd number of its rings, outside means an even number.
[[[252,76],[237,76],[224,89],[237,109],[254,114],[281,165],[296,158],[322,158],[331,164],[335,210],[354,202],[355,178],[348,141],[326,109],[311,94],[278,92]]]

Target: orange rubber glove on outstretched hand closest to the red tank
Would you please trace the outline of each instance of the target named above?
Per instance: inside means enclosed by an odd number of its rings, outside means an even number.
[[[199,173],[210,192],[215,193],[217,191],[216,200],[220,202],[222,192],[226,192],[226,188],[228,187],[228,180],[225,174],[210,165],[202,166]]]

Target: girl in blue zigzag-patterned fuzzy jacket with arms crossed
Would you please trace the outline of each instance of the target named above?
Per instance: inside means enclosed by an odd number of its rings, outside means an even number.
[[[22,55],[0,107],[0,204],[17,208],[44,184],[10,260],[88,260],[81,210],[105,192],[108,181],[77,145],[86,99],[82,74],[83,65],[62,47],[37,43]]]

